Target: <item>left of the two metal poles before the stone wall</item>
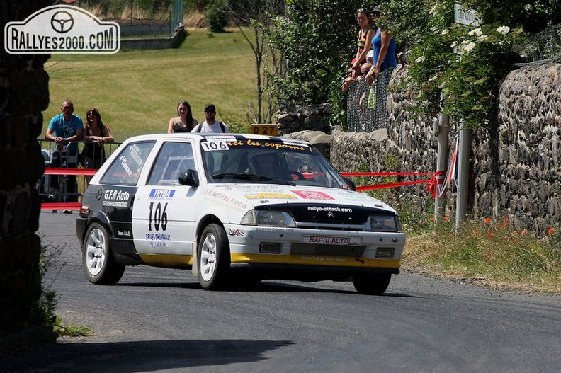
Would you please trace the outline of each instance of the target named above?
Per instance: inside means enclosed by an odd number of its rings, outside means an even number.
[[[446,94],[441,93],[441,108],[444,107],[446,101]],[[438,118],[438,127],[436,128],[436,134],[438,135],[438,147],[436,150],[436,172],[442,173],[442,175],[436,176],[436,182],[438,187],[440,187],[446,178],[446,168],[448,168],[448,134],[450,125],[450,115],[442,114]],[[436,190],[436,196],[434,197],[434,222],[438,225],[444,214],[444,209],[446,208],[446,195],[443,193],[441,196],[438,195],[438,189]]]

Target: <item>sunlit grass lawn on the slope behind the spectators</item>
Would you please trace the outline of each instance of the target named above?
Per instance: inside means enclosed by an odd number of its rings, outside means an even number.
[[[53,54],[45,70],[50,105],[43,113],[43,132],[65,99],[74,102],[74,114],[83,120],[90,106],[98,108],[115,141],[166,132],[181,100],[191,104],[199,122],[205,103],[214,103],[217,119],[232,132],[248,132],[246,108],[256,102],[253,54],[237,30],[188,30],[178,49]]]

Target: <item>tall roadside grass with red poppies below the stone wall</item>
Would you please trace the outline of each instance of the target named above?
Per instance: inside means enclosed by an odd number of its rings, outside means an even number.
[[[431,222],[427,226],[433,227]],[[561,236],[551,227],[538,237],[502,222],[447,222],[408,237],[406,270],[460,278],[522,292],[561,292]]]

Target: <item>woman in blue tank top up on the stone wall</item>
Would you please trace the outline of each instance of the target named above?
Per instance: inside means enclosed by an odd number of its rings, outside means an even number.
[[[375,6],[373,9],[374,18],[378,19],[382,15],[382,8]],[[389,31],[378,28],[372,39],[373,65],[366,74],[368,85],[373,86],[375,98],[370,98],[370,102],[375,103],[375,113],[373,117],[373,128],[387,126],[387,86],[390,84],[392,71],[397,66],[395,57],[395,37]]]

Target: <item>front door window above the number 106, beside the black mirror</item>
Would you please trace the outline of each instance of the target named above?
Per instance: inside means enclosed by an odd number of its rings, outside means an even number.
[[[195,169],[191,144],[166,142],[154,161],[148,185],[179,185],[179,176],[189,168]]]

